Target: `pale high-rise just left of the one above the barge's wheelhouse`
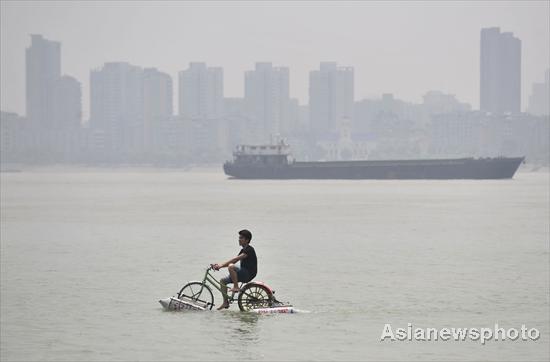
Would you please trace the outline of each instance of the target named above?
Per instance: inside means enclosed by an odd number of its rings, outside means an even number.
[[[179,73],[179,115],[219,119],[223,113],[223,68],[192,62]]]

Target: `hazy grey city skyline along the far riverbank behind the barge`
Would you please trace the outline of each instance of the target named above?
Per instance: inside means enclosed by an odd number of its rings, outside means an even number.
[[[195,34],[204,41],[200,31]],[[456,48],[451,39],[444,40],[430,51],[445,55]],[[419,77],[413,85],[421,92],[420,102],[403,97],[399,85],[365,97],[357,91],[365,89],[365,79],[353,61],[318,60],[307,70],[308,95],[300,101],[293,97],[299,87],[290,60],[256,61],[241,73],[244,94],[235,97],[227,93],[226,76],[233,72],[225,70],[229,65],[223,56],[216,62],[178,64],[175,77],[162,63],[110,59],[78,78],[67,66],[62,40],[33,33],[30,43],[24,52],[28,116],[2,109],[4,161],[181,166],[221,162],[239,144],[285,140],[307,160],[524,155],[530,162],[548,163],[548,77],[542,83],[536,79],[531,94],[522,93],[528,47],[515,27],[481,27],[465,47],[479,50],[473,59],[479,107],[444,86],[423,89],[431,72],[412,71]],[[394,83],[408,84],[400,71],[405,65],[420,67],[416,56],[450,69],[464,61],[434,59],[417,49],[421,43],[400,48],[413,55],[403,53],[397,57],[402,66],[386,64],[379,73],[391,70]],[[181,44],[173,50],[187,45]],[[220,38],[215,44],[224,43]],[[292,59],[292,54],[282,55]],[[456,75],[446,72],[439,80],[450,85]],[[522,107],[527,96],[529,103]],[[89,115],[83,111],[87,107]]]

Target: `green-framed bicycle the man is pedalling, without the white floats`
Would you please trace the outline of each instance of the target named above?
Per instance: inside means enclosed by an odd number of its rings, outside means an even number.
[[[221,283],[214,278],[211,270],[215,270],[213,265],[206,268],[202,281],[191,281],[185,284],[178,293],[178,299],[190,299],[195,303],[204,304],[206,309],[214,307],[214,294],[208,284],[216,288],[222,295]],[[241,311],[250,311],[257,308],[272,307],[276,299],[273,296],[274,291],[262,282],[239,283],[239,291],[232,292],[227,296],[229,303],[235,301],[235,294],[239,294],[237,304]]]

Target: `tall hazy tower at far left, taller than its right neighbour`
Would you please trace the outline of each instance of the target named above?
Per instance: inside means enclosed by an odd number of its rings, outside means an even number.
[[[37,129],[55,127],[55,87],[61,76],[61,43],[31,35],[26,49],[27,118]]]

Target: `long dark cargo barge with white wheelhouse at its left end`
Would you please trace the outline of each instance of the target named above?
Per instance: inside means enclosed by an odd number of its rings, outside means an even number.
[[[524,157],[299,162],[290,147],[239,145],[226,175],[240,179],[507,179]]]

